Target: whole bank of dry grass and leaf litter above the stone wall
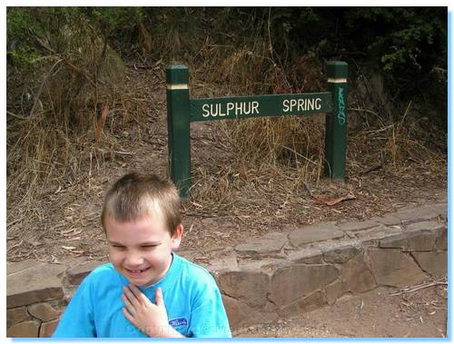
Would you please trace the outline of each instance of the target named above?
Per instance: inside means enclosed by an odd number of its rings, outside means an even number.
[[[325,89],[323,44],[298,54],[284,46],[278,54],[266,14],[243,28],[248,35],[239,31],[222,44],[200,26],[185,26],[190,15],[165,34],[139,22],[127,52],[94,30],[73,50],[40,38],[40,49],[53,52],[32,70],[8,64],[9,260],[104,254],[90,243],[102,245],[98,216],[108,184],[133,169],[167,173],[166,65],[189,66],[192,97]],[[350,74],[345,183],[322,178],[323,115],[192,124],[186,248],[442,198],[430,193],[446,189],[447,135],[431,120],[442,114],[417,95],[396,102],[380,73],[350,62]],[[349,192],[356,200],[334,207],[321,201]]]

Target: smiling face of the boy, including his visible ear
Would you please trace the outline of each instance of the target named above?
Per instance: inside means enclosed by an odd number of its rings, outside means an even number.
[[[104,226],[114,268],[136,286],[163,278],[172,263],[171,251],[180,246],[183,236],[182,224],[171,236],[160,213],[126,222],[107,216]]]

